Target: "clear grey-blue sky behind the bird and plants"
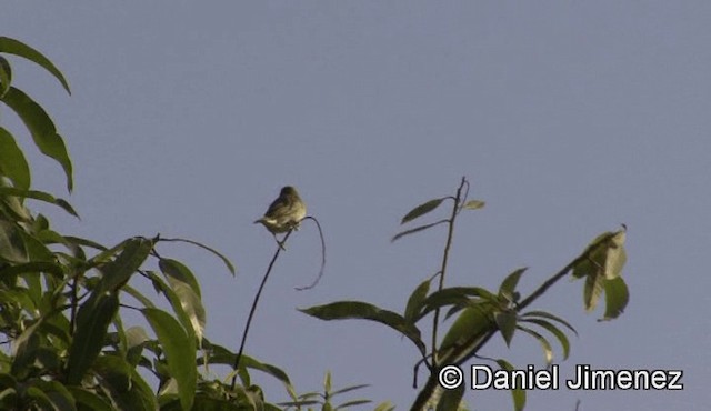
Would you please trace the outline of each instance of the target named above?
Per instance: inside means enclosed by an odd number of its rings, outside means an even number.
[[[582,284],[532,308],[571,321],[578,363],[680,369],[684,390],[529,393],[529,410],[705,410],[711,401],[711,3],[708,1],[3,1],[0,33],[44,52],[68,77],[13,59],[18,84],[53,116],[76,168],[81,221],[56,227],[107,244],[184,237],[226,252],[232,278],[186,247],[202,284],[207,335],[237,350],[274,251],[252,221],[296,186],[316,229],[292,235],[267,284],[247,352],[300,392],[370,383],[353,397],[408,409],[410,342],[370,322],[296,310],[363,300],[402,312],[437,271],[443,230],[402,239],[399,219],[452,194],[462,176],[487,201],[457,228],[449,285],[494,288],[528,265],[530,291],[603,231],[627,223],[627,312],[599,323]],[[20,130],[2,109],[2,121]],[[26,149],[34,153],[23,137]],[[33,183],[68,197],[37,154]],[[43,209],[42,209],[43,210]],[[150,289],[147,288],[147,292]],[[429,328],[429,327],[428,327]],[[557,360],[560,348],[555,347]],[[482,354],[543,365],[535,340]],[[424,375],[420,375],[423,381]],[[273,400],[278,383],[257,378]],[[467,394],[511,409],[508,392]]]

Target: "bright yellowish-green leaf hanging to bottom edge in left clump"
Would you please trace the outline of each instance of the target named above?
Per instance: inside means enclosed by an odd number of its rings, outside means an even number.
[[[194,341],[176,319],[158,309],[142,309],[141,312],[161,343],[170,375],[178,382],[178,394],[184,410],[190,410],[198,384]]]

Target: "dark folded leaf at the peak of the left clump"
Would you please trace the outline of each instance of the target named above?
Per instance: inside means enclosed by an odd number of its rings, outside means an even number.
[[[100,289],[117,291],[121,288],[146,261],[152,248],[151,240],[140,237],[129,240],[121,254],[101,268],[103,277],[99,284]]]

